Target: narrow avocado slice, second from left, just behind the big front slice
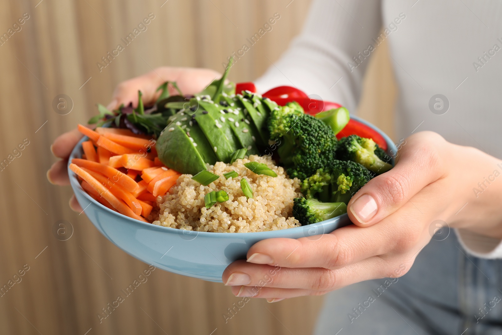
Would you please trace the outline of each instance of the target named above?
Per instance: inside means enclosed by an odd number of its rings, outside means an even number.
[[[206,139],[206,136],[200,129],[194,118],[195,111],[186,109],[181,110],[173,117],[169,118],[169,122],[173,125],[180,126],[181,129],[185,131],[189,138],[193,139],[195,147],[202,159],[206,163],[214,164],[217,161],[216,155],[214,154],[213,147]],[[169,128],[169,127],[168,127]]]

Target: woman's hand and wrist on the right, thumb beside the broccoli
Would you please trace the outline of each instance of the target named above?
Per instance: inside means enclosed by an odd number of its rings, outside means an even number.
[[[237,296],[275,302],[400,277],[430,241],[438,219],[502,238],[500,160],[433,132],[409,137],[397,158],[392,170],[370,180],[348,203],[354,225],[298,240],[260,241],[247,261],[227,267],[225,285]]]

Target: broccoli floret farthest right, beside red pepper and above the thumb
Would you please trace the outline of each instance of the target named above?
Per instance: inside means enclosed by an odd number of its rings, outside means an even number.
[[[381,174],[392,169],[392,165],[375,154],[376,144],[372,139],[350,135],[338,141],[336,157],[345,161],[354,161],[366,169]]]

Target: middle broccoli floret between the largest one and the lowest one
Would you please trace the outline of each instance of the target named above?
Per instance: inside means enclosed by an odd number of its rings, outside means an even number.
[[[303,180],[302,193],[308,199],[347,204],[355,192],[373,177],[374,174],[359,163],[334,160],[331,167],[318,169]]]

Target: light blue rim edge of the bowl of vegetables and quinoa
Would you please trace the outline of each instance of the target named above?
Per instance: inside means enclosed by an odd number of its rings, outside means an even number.
[[[385,134],[378,127],[375,127],[371,123],[369,123],[365,120],[362,120],[362,119],[360,119],[356,116],[353,116],[353,115],[350,115],[350,118],[370,127],[374,131],[378,132],[384,138],[384,140],[387,142],[387,146],[388,146],[387,153],[388,154],[392,150],[397,152],[397,147],[396,147],[395,143],[391,140],[391,138],[387,134]],[[108,208],[108,207],[102,205],[101,203],[99,203],[98,201],[94,200],[93,197],[91,197],[87,192],[84,191],[84,189],[82,188],[82,186],[78,182],[77,175],[72,170],[70,170],[69,166],[70,166],[71,160],[73,158],[77,158],[78,156],[80,156],[82,142],[87,141],[87,140],[88,140],[88,137],[84,136],[80,141],[78,141],[78,143],[72,149],[71,154],[68,158],[67,169],[68,169],[68,175],[70,178],[70,184],[73,188],[73,191],[80,192],[81,195],[83,195],[88,201],[90,201],[90,203],[98,206],[98,208],[100,210],[107,211],[112,215],[115,214],[117,216],[116,217],[117,219],[125,219],[126,221],[129,221],[132,224],[140,224],[148,229],[159,230],[159,231],[164,231],[166,233],[185,235],[185,236],[189,236],[189,235],[198,236],[199,234],[202,234],[202,236],[204,236],[206,238],[234,239],[234,238],[243,238],[244,236],[247,236],[249,238],[263,239],[263,238],[274,238],[274,236],[272,236],[272,235],[274,235],[274,233],[276,235],[294,235],[297,232],[304,231],[306,228],[308,228],[309,230],[322,228],[322,230],[324,231],[326,226],[329,226],[333,222],[337,222],[338,220],[340,220],[340,218],[348,215],[347,213],[344,213],[342,215],[338,215],[338,216],[332,217],[332,218],[324,220],[324,221],[316,222],[315,224],[312,224],[312,225],[300,226],[300,227],[294,227],[294,228],[288,228],[288,229],[281,229],[281,230],[276,230],[276,231],[249,232],[249,233],[228,233],[228,234],[215,233],[215,232],[188,231],[188,230],[181,230],[181,229],[176,229],[176,228],[171,228],[171,227],[158,226],[158,225],[151,224],[149,222],[143,222],[143,221],[137,220],[135,218],[129,217],[127,215],[124,215],[122,213],[119,213],[117,211],[111,210],[110,208]],[[391,156],[391,162],[394,165],[395,158],[393,155],[390,155],[390,156]],[[85,212],[85,209],[83,211]],[[142,227],[142,226],[138,226],[138,228]],[[265,236],[262,236],[262,235],[265,235]],[[278,236],[278,237],[284,237],[284,236]]]

